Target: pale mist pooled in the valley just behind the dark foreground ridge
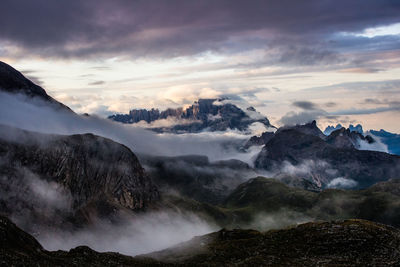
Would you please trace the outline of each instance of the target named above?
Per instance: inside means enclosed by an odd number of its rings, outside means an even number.
[[[55,231],[41,233],[39,242],[47,250],[69,250],[87,245],[100,252],[119,252],[136,256],[166,249],[187,241],[193,236],[217,230],[193,214],[177,212],[148,212],[127,218],[119,225],[98,222],[76,232]]]

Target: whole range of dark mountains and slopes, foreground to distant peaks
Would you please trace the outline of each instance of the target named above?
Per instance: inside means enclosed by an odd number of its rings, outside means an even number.
[[[73,113],[12,67],[0,66],[3,93]],[[223,99],[118,116],[110,119],[153,126],[171,116],[190,122],[152,128],[157,132],[246,131],[255,122],[274,131],[237,148],[237,155],[260,149],[245,163],[210,161],[195,150],[174,157],[136,153],[92,133],[44,134],[0,125],[2,264],[396,266],[400,261],[400,156],[365,150],[378,144],[377,137],[393,136],[365,134],[357,126],[327,136],[315,121],[275,130],[254,109],[243,111]],[[49,251],[36,240],[65,230],[74,237],[98,225],[106,229],[99,235],[123,232],[127,222],[149,225],[152,234],[156,224],[149,218],[160,212],[191,219],[189,229],[195,227],[193,217],[207,222],[209,234],[136,257],[85,246]],[[170,218],[154,217],[161,218],[158,224]],[[151,239],[157,238],[154,232]]]

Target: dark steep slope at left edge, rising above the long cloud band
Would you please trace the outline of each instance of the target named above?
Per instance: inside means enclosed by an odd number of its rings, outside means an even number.
[[[34,84],[25,78],[22,73],[2,61],[0,61],[0,92],[39,98],[55,108],[72,112],[69,107],[49,96],[42,87]]]

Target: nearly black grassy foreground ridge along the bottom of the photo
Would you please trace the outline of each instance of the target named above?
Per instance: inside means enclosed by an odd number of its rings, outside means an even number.
[[[265,233],[222,229],[137,257],[84,246],[47,251],[5,217],[0,217],[0,240],[2,263],[9,266],[396,266],[400,261],[400,231],[363,220],[306,223]]]

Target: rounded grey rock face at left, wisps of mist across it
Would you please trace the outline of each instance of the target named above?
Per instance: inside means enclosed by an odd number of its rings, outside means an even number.
[[[142,210],[158,199],[136,156],[110,139],[7,126],[0,132],[2,213],[25,218],[29,211],[38,222],[50,215],[48,223],[53,213],[81,213],[88,220],[90,211],[107,215],[121,208]]]

